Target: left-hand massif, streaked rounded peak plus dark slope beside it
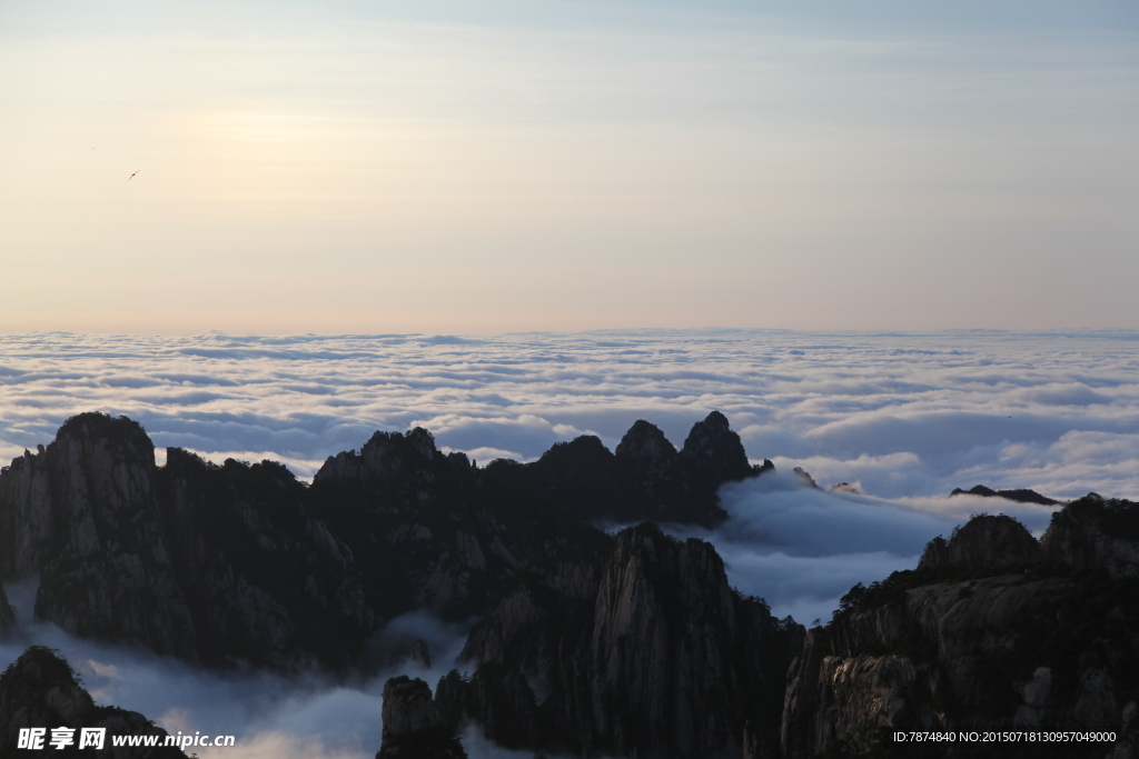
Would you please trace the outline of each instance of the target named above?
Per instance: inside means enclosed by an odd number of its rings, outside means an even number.
[[[38,575],[36,618],[80,637],[219,666],[335,665],[374,618],[304,490],[279,464],[178,448],[157,469],[136,422],[82,414],[0,473],[0,572]]]

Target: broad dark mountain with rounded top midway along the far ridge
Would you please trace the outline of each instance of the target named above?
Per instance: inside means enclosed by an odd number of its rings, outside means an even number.
[[[378,616],[426,609],[461,620],[485,613],[519,568],[608,542],[568,508],[548,504],[543,488],[554,485],[535,467],[480,470],[461,453],[437,451],[426,430],[377,432],[359,453],[328,460],[310,503],[357,558]],[[588,487],[566,497],[584,500]]]

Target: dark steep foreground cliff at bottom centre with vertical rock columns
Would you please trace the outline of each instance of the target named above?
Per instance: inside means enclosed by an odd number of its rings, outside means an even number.
[[[702,541],[650,523],[604,553],[535,569],[472,632],[475,671],[436,691],[452,724],[576,756],[777,756],[803,629],[728,586]]]

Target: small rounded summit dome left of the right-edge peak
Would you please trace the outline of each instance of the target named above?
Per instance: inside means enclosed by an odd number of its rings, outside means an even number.
[[[1011,517],[980,514],[953,530],[947,542],[935,537],[926,546],[918,569],[961,564],[988,569],[1024,564],[1040,559],[1040,544]]]

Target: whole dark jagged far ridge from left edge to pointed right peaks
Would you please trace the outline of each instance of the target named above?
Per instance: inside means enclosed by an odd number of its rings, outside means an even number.
[[[311,487],[179,448],[159,468],[137,422],[89,413],[0,471],[0,579],[38,576],[36,617],[82,637],[345,670],[395,616],[482,616],[523,568],[604,551],[593,521],[714,523],[719,485],[759,471],[716,412],[680,452],[638,422],[616,455],[582,437],[485,469],[426,430],[377,432]]]

